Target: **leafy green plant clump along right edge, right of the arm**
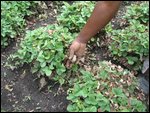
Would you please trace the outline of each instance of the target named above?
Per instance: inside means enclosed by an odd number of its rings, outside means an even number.
[[[149,55],[148,8],[145,2],[139,6],[131,5],[124,17],[129,22],[127,27],[117,30],[113,30],[110,24],[106,27],[112,40],[109,45],[111,54],[114,58],[123,58],[134,70],[140,70],[142,59]]]

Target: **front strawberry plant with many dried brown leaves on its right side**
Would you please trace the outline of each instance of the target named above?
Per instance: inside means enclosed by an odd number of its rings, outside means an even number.
[[[96,74],[80,70],[80,75],[68,90],[69,112],[146,111],[142,101],[135,100],[137,80],[130,71],[103,61]]]

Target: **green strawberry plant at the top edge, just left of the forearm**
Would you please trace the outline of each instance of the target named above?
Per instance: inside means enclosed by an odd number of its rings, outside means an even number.
[[[68,4],[64,2],[57,21],[60,25],[67,27],[70,32],[79,32],[85,25],[94,9],[94,2],[80,1]]]

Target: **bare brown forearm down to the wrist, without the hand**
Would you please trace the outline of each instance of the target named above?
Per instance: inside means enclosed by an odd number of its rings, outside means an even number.
[[[120,6],[120,1],[97,2],[92,15],[80,31],[77,39],[87,43],[92,36],[100,31],[116,14]]]

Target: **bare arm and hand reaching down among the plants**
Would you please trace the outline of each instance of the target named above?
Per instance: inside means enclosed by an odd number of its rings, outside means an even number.
[[[97,2],[87,23],[69,48],[70,60],[74,55],[78,57],[84,55],[87,42],[109,23],[118,11],[119,6],[120,1]]]

